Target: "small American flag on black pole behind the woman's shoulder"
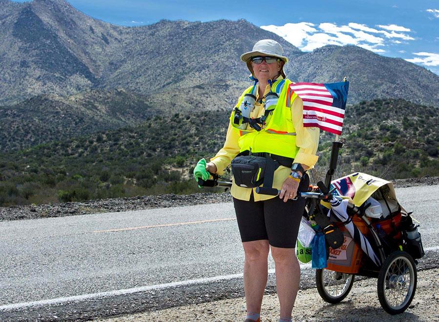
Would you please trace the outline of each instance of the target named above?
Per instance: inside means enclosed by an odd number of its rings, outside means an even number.
[[[349,82],[290,84],[288,97],[296,93],[303,101],[303,126],[341,134]]]

